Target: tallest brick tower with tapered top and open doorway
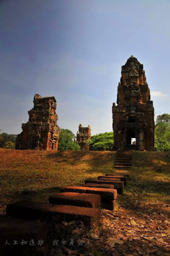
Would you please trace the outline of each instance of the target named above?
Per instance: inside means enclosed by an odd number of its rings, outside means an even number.
[[[154,148],[153,101],[150,101],[143,65],[133,55],[122,66],[117,105],[113,103],[112,113],[114,150]],[[133,144],[132,138],[136,139]]]

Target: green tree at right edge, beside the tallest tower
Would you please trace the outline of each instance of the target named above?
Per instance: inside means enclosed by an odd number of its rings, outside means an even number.
[[[156,118],[155,125],[156,151],[170,151],[170,115],[162,114]]]

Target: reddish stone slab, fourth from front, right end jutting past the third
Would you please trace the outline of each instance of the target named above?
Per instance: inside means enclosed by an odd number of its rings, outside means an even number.
[[[112,188],[66,186],[61,189],[61,193],[63,192],[78,192],[78,193],[89,193],[89,194],[100,195],[102,207],[108,210],[114,210],[115,199],[117,198],[117,191],[116,189],[112,189]]]

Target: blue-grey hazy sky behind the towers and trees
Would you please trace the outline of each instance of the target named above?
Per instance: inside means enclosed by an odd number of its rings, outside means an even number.
[[[22,131],[34,94],[60,128],[112,131],[121,66],[144,65],[155,115],[170,114],[169,0],[0,0],[0,129]]]

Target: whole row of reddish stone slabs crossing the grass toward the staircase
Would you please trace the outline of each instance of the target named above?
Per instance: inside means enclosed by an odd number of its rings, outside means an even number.
[[[99,223],[101,208],[114,210],[117,193],[123,193],[128,178],[127,173],[116,171],[114,174],[98,176],[94,180],[87,179],[82,186],[65,186],[60,193],[49,196],[49,203],[23,200],[8,204],[6,216],[3,216],[3,221],[0,219],[0,231],[5,234],[3,240],[0,240],[1,245],[2,242],[5,244],[6,240],[11,239],[10,233],[15,233],[15,238],[21,237],[22,234],[26,236],[27,229],[33,238],[35,225],[42,230],[44,239],[47,239],[47,223],[54,219],[57,223],[81,221],[85,227],[93,227],[94,223]],[[16,225],[20,228],[16,228]],[[17,233],[13,229],[18,230]]]

